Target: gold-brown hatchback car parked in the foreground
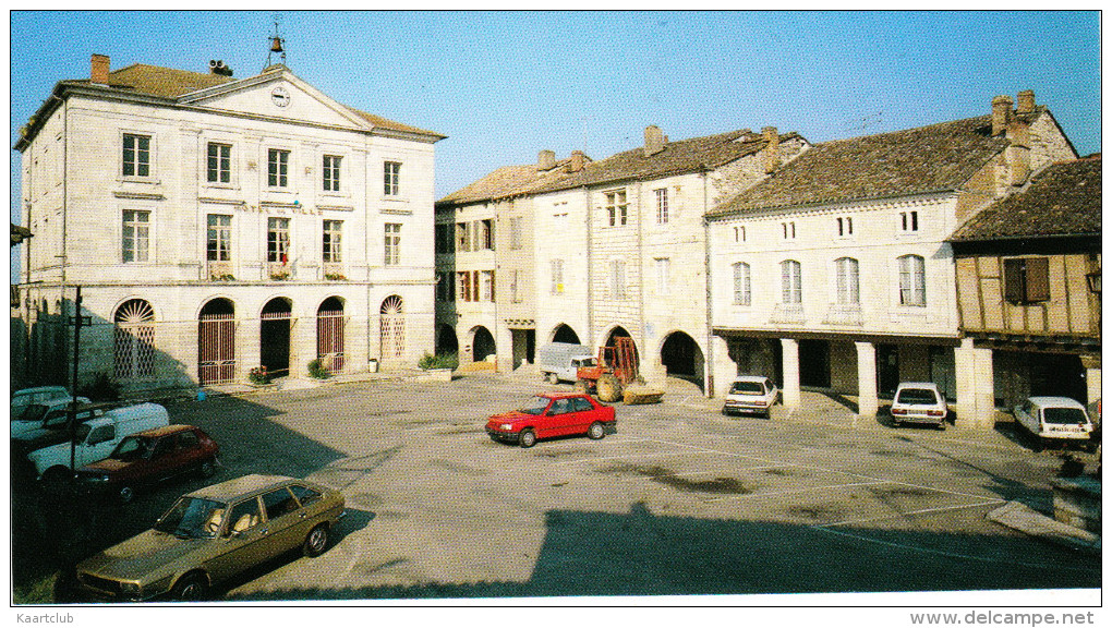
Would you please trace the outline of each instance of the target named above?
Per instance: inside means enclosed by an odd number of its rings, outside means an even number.
[[[122,601],[205,599],[211,587],[300,547],[318,556],[344,496],[281,476],[244,476],[185,495],[155,527],[78,564],[82,590]]]

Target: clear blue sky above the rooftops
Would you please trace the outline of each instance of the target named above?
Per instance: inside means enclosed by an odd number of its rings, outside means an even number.
[[[10,16],[11,143],[54,82],[88,77],[92,52],[113,68],[222,59],[242,78],[262,69],[272,29],[267,11]],[[980,116],[1023,89],[1081,154],[1101,150],[1095,11],[285,11],[281,30],[287,66],[325,93],[448,136],[437,197],[542,149],[627,150],[647,124],[820,142]]]

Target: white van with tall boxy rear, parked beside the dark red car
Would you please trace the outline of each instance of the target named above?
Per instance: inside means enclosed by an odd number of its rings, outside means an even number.
[[[158,403],[116,408],[77,427],[73,462],[78,467],[107,458],[125,437],[170,425],[170,415]],[[70,471],[70,442],[60,442],[27,455],[39,478],[63,478]]]

